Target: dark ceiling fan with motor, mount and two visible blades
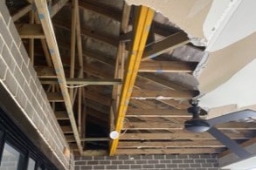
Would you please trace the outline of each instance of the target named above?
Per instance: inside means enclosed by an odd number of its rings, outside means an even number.
[[[208,132],[227,146],[230,150],[232,150],[233,153],[237,154],[240,158],[245,159],[252,156],[251,153],[247,152],[246,149],[239,146],[236,141],[230,139],[225,135],[225,133],[219,131],[215,126],[225,122],[256,117],[256,112],[252,110],[243,110],[225,114],[213,119],[201,119],[199,116],[201,108],[198,106],[198,101],[190,101],[190,104],[192,106],[188,109],[188,112],[190,112],[193,116],[191,119],[184,122],[185,130],[191,133]]]

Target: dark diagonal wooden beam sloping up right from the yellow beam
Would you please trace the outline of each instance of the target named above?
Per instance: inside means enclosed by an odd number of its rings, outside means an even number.
[[[190,39],[184,31],[179,31],[169,37],[164,37],[158,42],[147,45],[143,53],[142,61],[156,58],[165,51],[170,51],[189,42]]]

